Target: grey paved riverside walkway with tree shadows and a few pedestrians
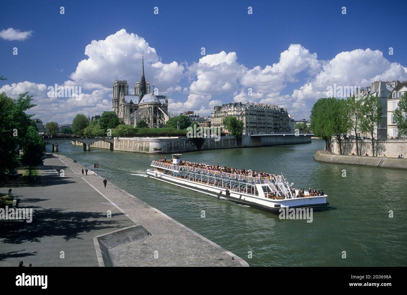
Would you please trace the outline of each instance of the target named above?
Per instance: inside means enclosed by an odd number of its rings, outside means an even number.
[[[33,221],[0,220],[0,267],[39,266],[248,266],[144,201],[68,157],[53,154],[39,166],[40,183],[18,180],[18,208]],[[61,177],[61,170],[64,176]],[[111,217],[108,216],[111,212]]]

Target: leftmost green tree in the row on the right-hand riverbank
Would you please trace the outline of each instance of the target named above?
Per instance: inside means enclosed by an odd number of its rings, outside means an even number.
[[[319,98],[311,108],[311,129],[315,136],[325,140],[326,150],[331,152],[332,133],[329,125],[329,106],[334,103],[334,97]]]

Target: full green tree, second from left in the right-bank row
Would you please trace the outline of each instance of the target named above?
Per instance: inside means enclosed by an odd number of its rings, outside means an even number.
[[[350,120],[346,100],[335,99],[329,104],[329,118],[327,129],[339,144],[339,153],[342,155],[342,134],[346,134],[350,128]]]

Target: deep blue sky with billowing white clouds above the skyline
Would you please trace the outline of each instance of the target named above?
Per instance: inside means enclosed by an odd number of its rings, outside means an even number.
[[[146,79],[166,91],[170,111],[208,115],[217,103],[256,101],[282,105],[301,119],[335,82],[366,86],[378,77],[407,79],[406,8],[402,1],[7,2],[0,31],[31,34],[24,40],[0,38],[0,74],[8,78],[0,87],[13,97],[30,91],[40,105],[37,117],[45,122],[100,114],[110,110],[114,77],[126,79],[130,89],[140,79],[137,54],[148,43],[155,50],[147,53]],[[122,29],[114,43],[97,43]],[[94,55],[85,55],[92,40]],[[104,46],[120,57],[105,62]],[[80,68],[87,59],[94,64]],[[219,85],[212,87],[215,82]],[[88,96],[80,102],[50,99],[40,85],[55,83],[82,85]],[[246,95],[249,87],[252,97]]]

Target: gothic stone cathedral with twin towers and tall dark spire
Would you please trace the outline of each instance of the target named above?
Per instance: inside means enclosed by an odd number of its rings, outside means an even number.
[[[135,83],[134,94],[129,94],[126,80],[114,80],[112,111],[127,125],[136,125],[144,120],[149,127],[164,127],[165,122],[172,117],[168,113],[167,97],[150,92],[150,83],[144,77],[144,56],[141,80]]]

